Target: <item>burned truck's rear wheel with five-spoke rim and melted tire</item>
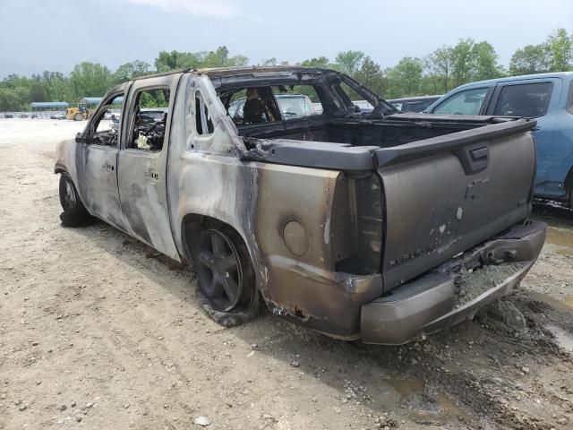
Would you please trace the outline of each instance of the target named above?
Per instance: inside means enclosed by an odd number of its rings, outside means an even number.
[[[205,312],[225,327],[256,317],[259,294],[242,237],[231,228],[208,228],[201,231],[194,248],[195,297]]]

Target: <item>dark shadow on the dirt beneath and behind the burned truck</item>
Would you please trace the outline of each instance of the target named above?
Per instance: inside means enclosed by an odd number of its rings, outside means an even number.
[[[182,306],[188,306],[190,313],[201,309],[194,298],[192,267],[183,267],[154,253],[101,221],[74,231],[184,302]],[[523,300],[522,307],[526,308],[528,302]],[[201,314],[202,319],[209,317]],[[515,414],[509,410],[509,403],[499,401],[496,392],[514,390],[513,380],[518,372],[515,360],[521,357],[519,363],[523,366],[532,366],[529,361],[533,360],[535,366],[548,372],[560,354],[543,338],[543,330],[532,323],[534,320],[528,316],[530,331],[517,336],[484,312],[473,321],[424,341],[382,347],[333,340],[279,320],[262,309],[259,318],[251,323],[220,327],[196,336],[217,336],[220,343],[238,340],[247,348],[244,357],[251,346],[256,354],[282,364],[283,372],[295,368],[298,374],[311,376],[313,383],[338,392],[339,408],[352,406],[372,416],[386,412],[396,418],[397,426],[398,419],[407,417],[422,426],[478,428],[477,417],[488,417],[503,421],[506,428],[514,428],[517,424],[512,421],[512,414]],[[185,347],[191,350],[193,345],[182,346]],[[541,356],[543,359],[537,359]],[[247,366],[246,360],[242,358],[237,363]]]

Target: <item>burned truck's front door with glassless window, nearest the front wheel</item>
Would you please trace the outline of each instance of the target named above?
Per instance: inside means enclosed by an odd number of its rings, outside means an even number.
[[[124,231],[127,225],[117,189],[117,152],[126,86],[111,93],[76,138],[76,168],[81,199],[92,215]]]

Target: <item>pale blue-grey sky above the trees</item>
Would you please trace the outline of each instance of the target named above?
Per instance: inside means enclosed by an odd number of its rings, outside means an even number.
[[[460,38],[489,41],[507,65],[560,27],[573,32],[571,0],[0,0],[0,79],[69,73],[82,61],[113,71],[153,64],[160,50],[222,45],[249,64],[354,49],[389,67]]]

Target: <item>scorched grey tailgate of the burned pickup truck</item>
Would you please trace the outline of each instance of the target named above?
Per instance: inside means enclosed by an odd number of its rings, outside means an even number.
[[[521,119],[376,151],[385,291],[527,217],[534,126]]]

